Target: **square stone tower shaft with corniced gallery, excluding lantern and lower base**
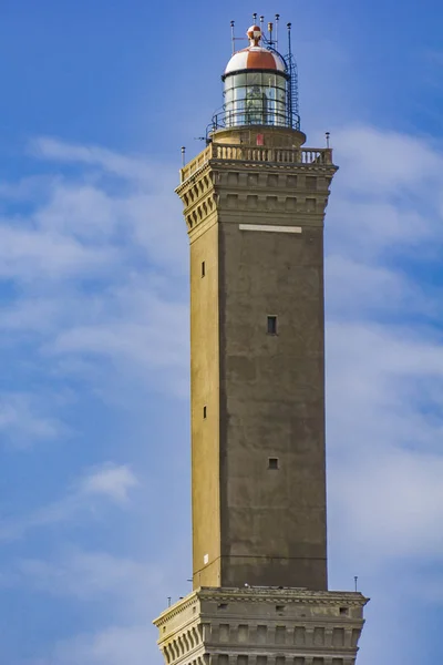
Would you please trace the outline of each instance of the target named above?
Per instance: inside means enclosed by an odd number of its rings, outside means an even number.
[[[182,170],[194,589],[327,589],[323,217],[337,167],[231,127]]]

